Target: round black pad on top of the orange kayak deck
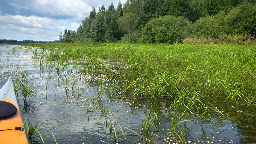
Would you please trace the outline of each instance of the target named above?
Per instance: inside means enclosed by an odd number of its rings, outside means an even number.
[[[10,102],[0,101],[0,120],[9,118],[17,113],[17,108]]]

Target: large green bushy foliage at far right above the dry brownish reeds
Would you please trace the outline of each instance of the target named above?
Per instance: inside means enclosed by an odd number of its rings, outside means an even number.
[[[221,11],[215,16],[197,20],[191,37],[220,38],[226,35],[256,34],[256,4],[244,2],[228,13]]]

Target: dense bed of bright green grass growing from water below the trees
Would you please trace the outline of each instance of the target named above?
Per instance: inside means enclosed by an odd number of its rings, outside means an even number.
[[[113,98],[115,92],[155,102],[171,101],[170,110],[196,121],[214,122],[212,115],[216,113],[226,116],[222,104],[246,105],[256,100],[256,49],[250,45],[116,43],[46,47],[61,48],[58,50],[63,53],[63,61],[86,58],[87,65],[82,65],[80,71],[84,74],[108,72],[111,68],[103,67],[100,60],[116,61],[118,71],[103,73],[124,84],[123,88],[113,88]]]

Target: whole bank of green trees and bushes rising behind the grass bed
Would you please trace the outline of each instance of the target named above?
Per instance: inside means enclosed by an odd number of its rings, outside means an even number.
[[[127,0],[102,5],[74,30],[60,32],[66,43],[176,43],[255,41],[255,0]]]

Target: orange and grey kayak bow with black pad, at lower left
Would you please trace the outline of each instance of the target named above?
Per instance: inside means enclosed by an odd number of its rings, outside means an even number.
[[[23,113],[10,77],[0,89],[0,144],[29,144],[27,130],[22,128],[23,121]]]

